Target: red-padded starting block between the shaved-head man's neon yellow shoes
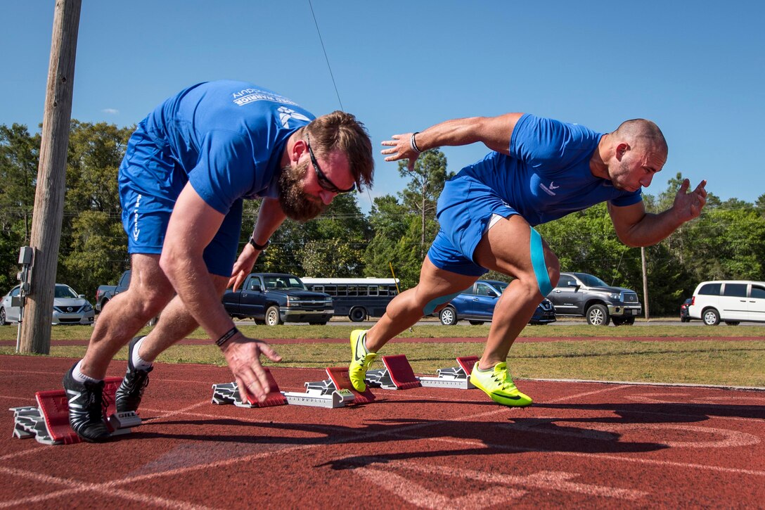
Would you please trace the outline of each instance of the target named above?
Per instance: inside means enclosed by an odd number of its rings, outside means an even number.
[[[405,355],[382,356],[385,368],[366,372],[366,383],[383,390],[407,390],[412,387],[452,387],[468,390],[475,386],[470,383],[470,372],[478,361],[477,356],[457,358],[457,366],[441,368],[437,377],[416,376]]]

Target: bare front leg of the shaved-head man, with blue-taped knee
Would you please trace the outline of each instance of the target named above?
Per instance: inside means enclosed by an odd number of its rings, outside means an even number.
[[[480,266],[514,278],[494,307],[489,338],[479,361],[480,368],[491,368],[506,361],[513,342],[534,315],[536,306],[545,298],[539,291],[532,266],[530,236],[531,228],[526,220],[514,215],[497,221],[483,235],[476,248],[475,260]],[[558,257],[544,240],[542,248],[550,282],[555,286],[560,276]]]

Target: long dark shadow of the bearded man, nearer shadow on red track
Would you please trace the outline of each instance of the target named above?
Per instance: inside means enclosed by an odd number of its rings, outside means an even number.
[[[147,423],[148,425],[149,423]],[[140,430],[129,439],[182,439],[194,441],[259,443],[263,445],[318,445],[363,444],[365,450],[378,459],[400,460],[422,457],[449,457],[460,455],[496,455],[524,453],[529,451],[579,452],[579,453],[640,453],[662,450],[666,444],[644,441],[620,441],[620,433],[575,427],[568,423],[558,425],[555,420],[539,421],[535,418],[502,417],[491,421],[474,420],[428,420],[386,419],[363,423],[361,427],[341,424],[311,423],[252,423],[236,418],[219,420],[157,420],[150,428]],[[192,426],[194,433],[164,432],[166,427]],[[200,431],[197,433],[197,427]],[[241,428],[241,432],[231,433]],[[142,426],[143,428],[143,426]],[[225,432],[218,432],[224,429]],[[267,430],[269,432],[264,433]],[[278,432],[290,431],[289,433]],[[295,435],[298,432],[301,434]],[[310,434],[306,436],[305,434]],[[318,436],[317,436],[318,434]],[[445,450],[428,450],[414,453],[385,453],[396,449],[400,442],[439,439],[437,444],[454,446]],[[382,445],[377,447],[375,445]],[[465,445],[476,445],[465,448]],[[480,445],[480,446],[479,446]],[[366,458],[366,456],[365,456]],[[337,469],[358,466],[357,459],[337,461]],[[375,461],[378,462],[378,461]]]

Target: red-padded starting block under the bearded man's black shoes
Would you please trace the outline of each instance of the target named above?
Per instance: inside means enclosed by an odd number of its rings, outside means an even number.
[[[130,433],[130,427],[141,424],[141,418],[134,412],[117,413],[114,406],[122,378],[106,378],[103,398],[109,404],[106,408],[106,424],[112,436]],[[19,439],[34,437],[43,444],[73,444],[82,440],[69,425],[69,403],[63,390],[37,391],[34,394],[37,407],[11,407],[13,411],[13,436]]]

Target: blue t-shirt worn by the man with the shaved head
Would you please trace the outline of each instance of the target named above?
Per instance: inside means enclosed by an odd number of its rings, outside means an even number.
[[[459,175],[492,188],[532,226],[603,201],[617,206],[640,202],[640,189],[620,191],[590,172],[601,136],[578,124],[526,113],[513,129],[510,155],[491,152]]]

